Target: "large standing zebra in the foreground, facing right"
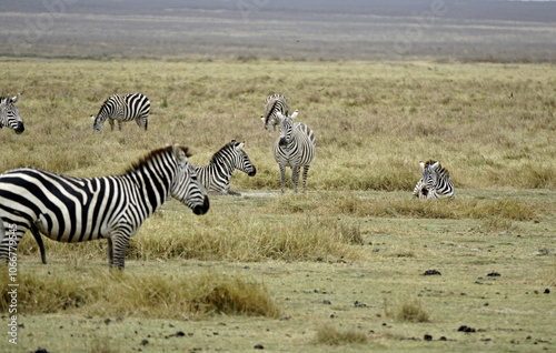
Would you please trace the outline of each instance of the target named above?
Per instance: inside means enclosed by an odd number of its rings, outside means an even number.
[[[188,157],[188,149],[176,144],[151,151],[116,176],[83,179],[33,168],[0,174],[0,260],[12,258],[31,229],[36,238],[40,232],[59,242],[106,238],[110,266],[123,269],[130,236],[169,196],[195,214],[208,211]]]

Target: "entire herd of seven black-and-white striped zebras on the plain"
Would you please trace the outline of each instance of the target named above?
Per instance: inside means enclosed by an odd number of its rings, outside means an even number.
[[[14,103],[19,94],[0,98],[0,129],[24,131]],[[102,104],[95,118],[93,130],[102,131],[106,120],[113,130],[123,121],[136,120],[147,130],[149,99],[141,93],[113,94]],[[280,169],[281,192],[285,191],[286,168],[291,169],[294,191],[298,191],[302,168],[302,190],[315,158],[316,140],[312,130],[300,122],[296,110],[290,114],[287,99],[272,94],[265,101],[261,121],[266,130],[279,137],[274,144],[274,158]],[[73,178],[39,170],[17,168],[0,174],[0,261],[12,261],[23,234],[30,230],[39,244],[46,263],[41,234],[59,242],[82,242],[107,239],[110,266],[123,269],[130,238],[145,220],[170,196],[181,201],[195,214],[209,210],[208,192],[235,194],[230,190],[232,172],[241,170],[256,174],[256,168],[244,150],[244,143],[231,140],[217,151],[208,165],[192,165],[188,148],[170,145],[150,151],[126,173],[113,176]],[[454,183],[440,163],[420,163],[421,179],[414,190],[419,199],[454,195]]]

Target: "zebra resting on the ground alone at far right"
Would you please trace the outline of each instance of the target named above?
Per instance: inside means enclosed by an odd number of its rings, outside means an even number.
[[[418,199],[439,199],[454,196],[454,183],[449,172],[439,162],[428,160],[419,162],[423,169],[421,179],[414,189],[414,196]]]

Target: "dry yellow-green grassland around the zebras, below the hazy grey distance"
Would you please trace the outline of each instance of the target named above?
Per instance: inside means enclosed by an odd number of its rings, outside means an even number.
[[[1,266],[1,352],[546,352],[556,350],[556,67],[550,63],[0,59],[26,131],[0,170],[123,173],[231,139],[257,168],[197,216],[169,200],[110,271],[106,241],[30,234],[17,259],[18,344]],[[148,131],[93,133],[112,93],[142,92]],[[312,128],[305,193],[280,192],[264,130],[282,93]],[[456,185],[411,198],[419,161]],[[289,174],[288,174],[289,175]],[[434,270],[434,271],[433,271]],[[436,274],[430,274],[436,273]],[[426,275],[429,274],[429,275]]]

